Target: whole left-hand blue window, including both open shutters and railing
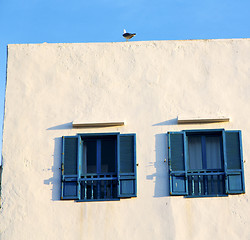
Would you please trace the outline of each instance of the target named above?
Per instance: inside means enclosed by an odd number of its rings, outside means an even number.
[[[136,197],[135,134],[64,136],[61,199]]]

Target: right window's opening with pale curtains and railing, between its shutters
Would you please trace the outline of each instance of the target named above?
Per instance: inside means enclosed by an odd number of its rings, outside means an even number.
[[[187,134],[188,195],[224,195],[221,134]]]

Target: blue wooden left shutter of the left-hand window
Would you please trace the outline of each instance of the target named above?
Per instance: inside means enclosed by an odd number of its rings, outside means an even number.
[[[78,136],[62,137],[61,199],[78,199]]]

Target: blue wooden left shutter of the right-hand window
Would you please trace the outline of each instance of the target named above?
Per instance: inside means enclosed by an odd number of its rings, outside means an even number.
[[[184,132],[168,133],[170,195],[188,194],[185,138]]]

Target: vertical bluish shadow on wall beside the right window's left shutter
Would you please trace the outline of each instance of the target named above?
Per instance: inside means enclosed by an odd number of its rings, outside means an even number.
[[[167,135],[155,135],[155,173],[148,175],[148,180],[154,180],[154,197],[169,196],[169,174],[167,165]]]

